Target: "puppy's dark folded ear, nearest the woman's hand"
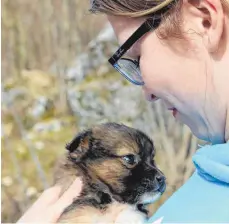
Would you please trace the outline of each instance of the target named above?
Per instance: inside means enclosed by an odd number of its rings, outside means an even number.
[[[91,130],[81,132],[66,145],[66,149],[69,151],[69,156],[71,159],[74,159],[76,162],[79,162],[82,159],[82,157],[88,152],[90,148],[91,137]]]

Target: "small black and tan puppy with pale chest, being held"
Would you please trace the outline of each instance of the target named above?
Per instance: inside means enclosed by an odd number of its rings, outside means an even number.
[[[59,222],[143,223],[144,206],[165,190],[165,177],[154,162],[153,142],[136,129],[116,123],[97,125],[66,148],[55,183],[65,191],[80,177],[83,189]]]

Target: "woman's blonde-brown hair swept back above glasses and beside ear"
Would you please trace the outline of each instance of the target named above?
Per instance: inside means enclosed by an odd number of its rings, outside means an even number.
[[[229,0],[221,2],[224,10],[229,12]],[[157,34],[161,38],[176,37],[184,40],[180,16],[182,3],[182,0],[91,0],[90,11],[117,16],[147,17],[172,4],[167,12],[159,15],[164,23],[157,30]]]

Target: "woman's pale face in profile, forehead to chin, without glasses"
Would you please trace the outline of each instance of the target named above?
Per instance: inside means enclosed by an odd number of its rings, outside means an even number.
[[[114,16],[108,19],[120,44],[144,21]],[[226,110],[217,95],[214,63],[200,36],[191,32],[186,37],[186,41],[162,40],[155,32],[149,32],[128,54],[133,58],[140,56],[147,100],[154,100],[152,96],[162,100],[176,119],[189,126],[198,138],[224,142]]]

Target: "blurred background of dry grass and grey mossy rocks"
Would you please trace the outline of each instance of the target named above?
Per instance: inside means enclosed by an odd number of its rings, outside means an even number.
[[[1,4],[2,222],[15,222],[52,185],[53,166],[77,132],[107,121],[154,139],[168,187],[153,213],[192,174],[197,139],[108,65],[118,45],[89,1]]]

